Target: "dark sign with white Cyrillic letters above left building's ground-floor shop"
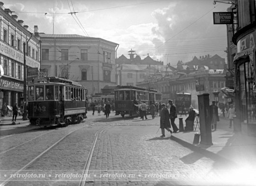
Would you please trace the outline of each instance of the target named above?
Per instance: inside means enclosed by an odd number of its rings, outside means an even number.
[[[13,79],[7,78],[5,76],[2,76],[0,78],[0,89],[7,89],[7,90],[23,92],[24,84],[21,82],[22,81],[13,80]]]

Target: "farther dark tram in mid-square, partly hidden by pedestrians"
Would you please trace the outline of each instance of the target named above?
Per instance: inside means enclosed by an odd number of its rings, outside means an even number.
[[[119,86],[114,90],[115,94],[115,110],[116,115],[139,115],[138,105],[139,102],[146,103],[147,114],[149,113],[149,105],[151,102],[162,100],[162,94],[157,90],[134,87],[134,86]]]

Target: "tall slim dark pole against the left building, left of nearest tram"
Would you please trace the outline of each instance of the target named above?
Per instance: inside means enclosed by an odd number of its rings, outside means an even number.
[[[23,83],[23,97],[24,97],[24,101],[23,101],[23,115],[22,115],[22,120],[27,120],[27,65],[26,65],[26,53],[25,53],[25,48],[26,48],[26,44],[27,44],[27,56],[28,56],[28,42],[31,39],[31,37],[33,36],[32,33],[30,33],[30,37],[27,40],[27,42],[23,43],[23,53],[24,53],[24,66],[23,66],[23,71],[24,71],[24,83]]]

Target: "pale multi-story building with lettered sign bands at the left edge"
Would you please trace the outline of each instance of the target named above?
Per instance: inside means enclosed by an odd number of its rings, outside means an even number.
[[[11,15],[10,9],[4,9],[0,2],[0,108],[3,103],[18,106],[23,102],[24,89],[24,53],[26,66],[40,68],[40,45],[37,36],[29,32],[23,20]],[[26,44],[25,51],[23,43]]]

